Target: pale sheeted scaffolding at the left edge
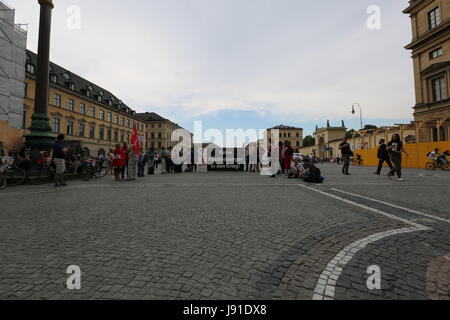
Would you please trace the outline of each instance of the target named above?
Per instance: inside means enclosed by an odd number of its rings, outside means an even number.
[[[23,124],[27,30],[14,23],[15,11],[0,1],[0,121]]]

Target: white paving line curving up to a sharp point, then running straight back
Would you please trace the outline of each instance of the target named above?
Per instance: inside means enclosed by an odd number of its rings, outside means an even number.
[[[385,217],[388,217],[388,218],[391,218],[391,219],[394,219],[397,221],[401,221],[403,223],[406,223],[406,224],[412,226],[410,228],[388,230],[388,231],[372,234],[363,239],[359,239],[359,240],[353,242],[352,244],[350,244],[349,246],[345,247],[344,249],[342,249],[328,263],[327,267],[321,273],[319,280],[317,281],[316,288],[314,289],[313,300],[332,300],[332,299],[334,299],[335,291],[336,291],[336,283],[339,280],[345,266],[347,265],[348,262],[350,262],[353,259],[355,254],[357,254],[360,250],[364,249],[369,244],[378,242],[384,238],[394,236],[394,235],[411,233],[411,232],[416,232],[416,231],[432,230],[431,228],[428,228],[428,227],[420,225],[418,223],[409,221],[407,219],[397,217],[393,214],[390,214],[390,213],[387,213],[387,212],[384,212],[384,211],[381,211],[381,210],[378,210],[375,208],[371,208],[371,207],[365,206],[363,204],[360,204],[360,203],[357,203],[354,201],[350,201],[350,200],[344,199],[342,197],[339,197],[339,196],[336,196],[336,195],[333,195],[330,193],[326,193],[321,190],[317,190],[315,188],[307,187],[305,185],[299,185],[299,186],[302,188],[320,193],[327,197],[345,202],[347,204],[383,215]]]

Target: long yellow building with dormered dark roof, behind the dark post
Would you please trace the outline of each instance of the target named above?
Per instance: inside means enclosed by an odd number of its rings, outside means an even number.
[[[27,52],[23,135],[29,133],[36,90],[36,54]],[[91,155],[108,152],[129,142],[133,128],[146,145],[146,124],[136,112],[105,89],[50,63],[48,116],[55,134]]]

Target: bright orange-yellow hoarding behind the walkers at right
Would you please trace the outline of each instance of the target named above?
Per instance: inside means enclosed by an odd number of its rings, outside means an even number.
[[[405,144],[405,150],[409,153],[409,157],[403,155],[403,167],[424,169],[426,164],[431,161],[427,158],[427,154],[435,148],[438,148],[440,152],[450,150],[450,141]],[[364,166],[378,166],[377,153],[378,149],[355,150],[355,154],[362,156]]]

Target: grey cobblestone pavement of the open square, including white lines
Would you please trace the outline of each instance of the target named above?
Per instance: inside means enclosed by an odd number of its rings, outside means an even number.
[[[7,189],[0,298],[450,299],[450,173],[321,168],[323,185],[205,173]]]

